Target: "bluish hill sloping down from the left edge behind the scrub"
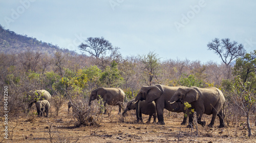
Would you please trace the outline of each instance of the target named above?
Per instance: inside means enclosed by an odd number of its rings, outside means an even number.
[[[24,51],[40,51],[42,53],[54,54],[56,51],[76,54],[75,51],[59,48],[57,45],[28,37],[27,35],[16,34],[13,31],[5,30],[0,25],[0,53],[20,53]]]

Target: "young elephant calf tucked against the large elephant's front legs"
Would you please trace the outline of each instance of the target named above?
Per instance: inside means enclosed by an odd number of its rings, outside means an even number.
[[[135,107],[134,102],[135,102],[135,100],[127,102],[126,108],[124,109],[124,111],[122,113],[123,116],[126,111],[135,110],[136,107]],[[146,103],[145,100],[139,101],[139,107],[140,107],[139,108],[140,118],[137,118],[137,123],[139,121],[141,121],[143,123],[142,118],[141,118],[142,117],[141,113],[150,116],[150,117],[148,117],[148,120],[146,123],[150,123],[152,116],[154,118],[153,123],[156,123],[156,104],[154,101],[150,102],[150,103]],[[138,109],[136,109],[136,110],[138,110]]]

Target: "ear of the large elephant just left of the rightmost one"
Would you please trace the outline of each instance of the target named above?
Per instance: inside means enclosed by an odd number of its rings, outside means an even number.
[[[145,95],[146,103],[150,103],[158,98],[160,98],[162,94],[162,91],[156,87],[156,86],[151,86],[147,88],[147,93]]]

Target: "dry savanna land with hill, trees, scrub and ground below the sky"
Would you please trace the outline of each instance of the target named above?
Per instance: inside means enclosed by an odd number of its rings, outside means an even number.
[[[162,60],[157,51],[123,57],[120,48],[103,37],[85,40],[78,47],[83,54],[78,54],[2,26],[0,47],[0,110],[3,115],[8,112],[1,118],[2,142],[256,141],[256,50],[247,53],[242,44],[229,38],[212,38],[205,45],[219,55],[222,64]],[[142,86],[156,84],[220,89],[225,97],[225,128],[197,122],[186,128],[180,124],[183,113],[166,109],[165,125],[136,123],[134,110],[123,117],[117,106],[102,106],[101,98],[89,106],[91,91],[99,87],[122,89],[126,104]],[[48,117],[38,117],[35,104],[28,106],[38,100],[30,94],[37,90],[52,96]],[[106,114],[100,112],[102,108]],[[211,115],[203,115],[207,124],[210,119]]]

